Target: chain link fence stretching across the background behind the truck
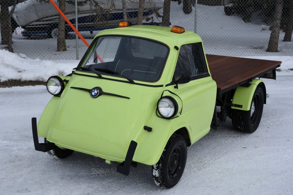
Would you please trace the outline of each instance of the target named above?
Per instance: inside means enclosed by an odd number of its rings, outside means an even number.
[[[133,24],[171,23],[170,27],[178,25],[196,31],[207,54],[293,56],[292,0],[53,1],[73,25],[77,21],[88,43],[98,32],[117,27],[127,17]],[[62,22],[50,1],[1,0],[0,5],[0,49],[50,60],[80,59],[85,53],[87,46],[81,39],[76,41],[76,34]],[[270,39],[278,52],[267,52]]]

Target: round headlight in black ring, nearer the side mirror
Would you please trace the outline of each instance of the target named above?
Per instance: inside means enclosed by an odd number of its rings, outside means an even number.
[[[163,118],[172,118],[177,114],[178,104],[171,96],[164,96],[158,101],[158,112]]]

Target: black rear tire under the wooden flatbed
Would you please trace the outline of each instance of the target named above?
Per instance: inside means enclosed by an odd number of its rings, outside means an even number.
[[[236,130],[246,133],[255,132],[260,123],[261,116],[263,115],[263,102],[263,89],[260,86],[257,86],[253,94],[249,111],[231,109],[231,120],[233,127]]]

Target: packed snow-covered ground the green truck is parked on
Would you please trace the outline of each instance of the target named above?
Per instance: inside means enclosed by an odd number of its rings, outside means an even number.
[[[258,130],[220,124],[188,147],[183,176],[168,190],[147,165],[127,177],[83,153],[57,160],[35,151],[31,118],[52,96],[45,86],[0,88],[0,194],[293,194],[293,75],[265,82],[270,97]]]

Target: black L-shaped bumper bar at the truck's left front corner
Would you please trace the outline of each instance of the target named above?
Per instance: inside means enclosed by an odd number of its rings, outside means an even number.
[[[38,130],[37,130],[37,118],[32,118],[32,130],[33,130],[33,140],[36,151],[47,152],[54,149],[56,146],[54,143],[39,143]]]

